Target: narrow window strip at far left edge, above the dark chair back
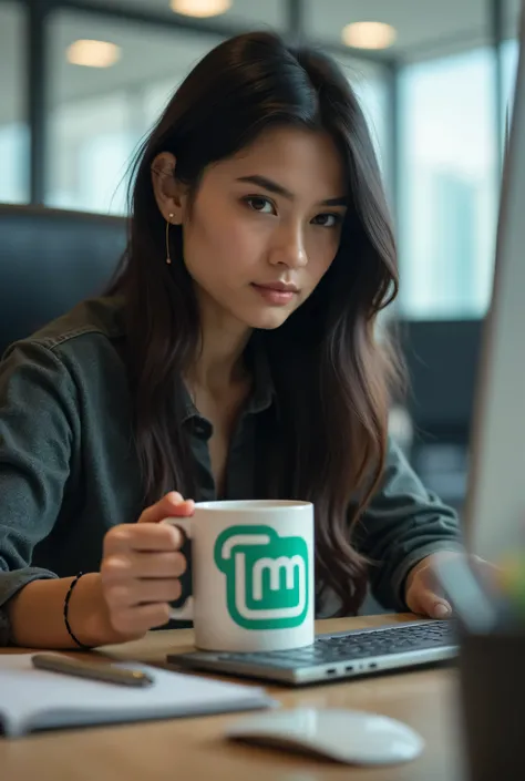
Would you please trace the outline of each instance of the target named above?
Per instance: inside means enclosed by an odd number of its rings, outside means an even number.
[[[0,6],[0,202],[29,199],[29,131],[24,119],[24,13]]]

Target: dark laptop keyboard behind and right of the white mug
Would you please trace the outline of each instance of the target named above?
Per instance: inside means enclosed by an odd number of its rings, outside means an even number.
[[[318,637],[312,646],[295,650],[256,654],[219,654],[229,661],[258,662],[274,667],[311,667],[336,661],[389,656],[455,645],[454,624],[434,620],[349,635]]]

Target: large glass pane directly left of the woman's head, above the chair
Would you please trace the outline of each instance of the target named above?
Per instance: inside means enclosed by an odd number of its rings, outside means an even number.
[[[79,39],[116,45],[107,68],[68,61]],[[48,205],[126,212],[127,173],[168,95],[217,38],[158,31],[96,14],[53,16]]]

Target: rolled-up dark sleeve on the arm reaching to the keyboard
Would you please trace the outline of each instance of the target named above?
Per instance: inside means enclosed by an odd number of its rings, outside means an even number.
[[[410,569],[439,551],[462,551],[456,513],[428,491],[390,440],[381,484],[356,530],[356,546],[371,559],[370,585],[385,608],[406,609]]]

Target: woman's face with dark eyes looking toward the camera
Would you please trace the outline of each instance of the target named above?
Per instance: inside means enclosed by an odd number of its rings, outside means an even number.
[[[281,326],[336,257],[343,171],[328,134],[286,127],[208,166],[178,220],[200,306],[249,328]]]

